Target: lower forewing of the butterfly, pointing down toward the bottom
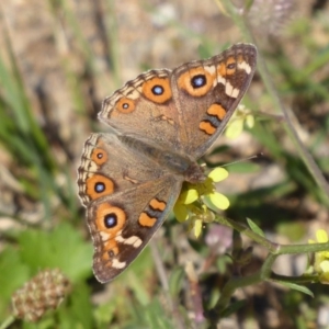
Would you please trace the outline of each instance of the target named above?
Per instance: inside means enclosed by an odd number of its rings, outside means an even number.
[[[93,271],[100,282],[113,280],[136,259],[169,215],[180,190],[181,182],[167,177],[88,207]]]

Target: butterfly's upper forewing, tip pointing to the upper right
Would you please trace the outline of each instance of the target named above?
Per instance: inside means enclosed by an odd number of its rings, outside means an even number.
[[[183,154],[198,159],[218,138],[251,82],[256,60],[253,45],[237,44],[173,70]]]

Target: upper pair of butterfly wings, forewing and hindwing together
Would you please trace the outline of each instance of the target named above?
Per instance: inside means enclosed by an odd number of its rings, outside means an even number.
[[[253,45],[237,44],[173,71],[147,71],[105,99],[99,117],[118,133],[198,159],[241,101],[256,60]]]

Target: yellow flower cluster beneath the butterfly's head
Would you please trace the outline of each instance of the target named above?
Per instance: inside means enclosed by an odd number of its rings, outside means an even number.
[[[216,168],[209,172],[203,183],[191,184],[184,183],[182,192],[173,207],[173,213],[179,222],[190,219],[190,229],[194,231],[197,238],[202,232],[204,223],[214,220],[214,213],[208,209],[205,201],[218,209],[227,209],[229,206],[228,198],[215,190],[214,183],[220,182],[228,177],[227,170]]]

